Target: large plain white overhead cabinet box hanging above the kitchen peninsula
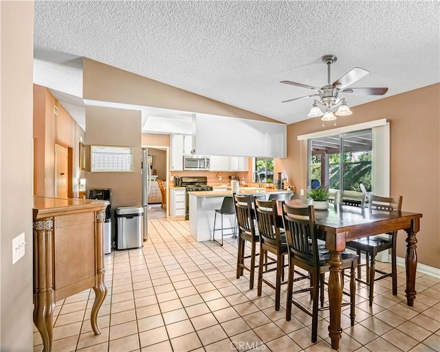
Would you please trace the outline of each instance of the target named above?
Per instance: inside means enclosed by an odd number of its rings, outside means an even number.
[[[285,124],[208,114],[196,114],[195,121],[196,154],[263,158],[287,155]]]

